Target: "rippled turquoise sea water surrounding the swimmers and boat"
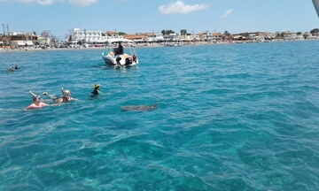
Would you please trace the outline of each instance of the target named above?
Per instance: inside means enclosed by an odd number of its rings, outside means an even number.
[[[0,190],[319,189],[319,41],[101,51],[0,52]]]

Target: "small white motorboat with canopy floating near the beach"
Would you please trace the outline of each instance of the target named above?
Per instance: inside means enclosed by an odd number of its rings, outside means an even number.
[[[124,44],[126,52],[124,51],[123,47],[120,48],[120,44]],[[101,56],[106,65],[138,65],[135,43],[128,39],[108,39],[105,42],[105,47]]]

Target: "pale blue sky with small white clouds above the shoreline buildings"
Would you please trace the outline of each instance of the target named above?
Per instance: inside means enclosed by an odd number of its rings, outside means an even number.
[[[309,32],[319,28],[311,0],[0,0],[0,34],[72,28],[126,34],[173,30]],[[4,27],[3,27],[4,25]]]

